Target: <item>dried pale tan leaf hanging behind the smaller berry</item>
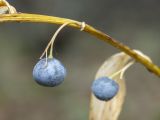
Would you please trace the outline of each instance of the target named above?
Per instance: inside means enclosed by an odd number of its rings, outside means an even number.
[[[103,76],[112,76],[114,73],[123,69],[129,62],[131,62],[131,60],[132,58],[125,53],[113,55],[100,67],[97,72],[96,79]],[[119,84],[120,89],[118,94],[110,101],[100,101],[93,94],[91,95],[90,120],[118,119],[126,93],[124,76],[122,76],[122,78],[120,78],[120,76],[120,74],[116,74],[113,78],[113,80]]]

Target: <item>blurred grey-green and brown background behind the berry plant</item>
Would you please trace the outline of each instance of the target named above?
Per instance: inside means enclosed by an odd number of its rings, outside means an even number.
[[[9,0],[19,12],[85,21],[113,38],[143,51],[160,65],[158,0]],[[54,56],[66,66],[65,82],[41,87],[32,69],[57,25],[0,24],[0,120],[87,120],[90,87],[101,64],[119,50],[65,28]],[[160,120],[160,79],[142,65],[126,73],[127,96],[120,120]]]

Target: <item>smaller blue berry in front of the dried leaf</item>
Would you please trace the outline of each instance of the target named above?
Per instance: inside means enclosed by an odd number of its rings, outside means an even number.
[[[101,77],[93,81],[91,89],[99,100],[108,101],[118,93],[119,85],[108,77]]]

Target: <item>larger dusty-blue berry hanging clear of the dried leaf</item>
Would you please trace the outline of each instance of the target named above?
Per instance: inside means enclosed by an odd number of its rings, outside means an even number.
[[[55,58],[41,59],[33,68],[35,81],[46,87],[55,87],[64,81],[66,69],[62,63]]]

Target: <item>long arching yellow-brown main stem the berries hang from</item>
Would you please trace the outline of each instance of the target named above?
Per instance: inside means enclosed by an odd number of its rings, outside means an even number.
[[[74,27],[77,29],[81,28],[81,22],[66,19],[66,18],[60,18],[60,17],[54,17],[54,16],[46,16],[46,15],[38,15],[38,14],[26,14],[26,13],[18,13],[18,14],[2,14],[0,15],[0,22],[36,22],[36,23],[51,23],[51,24],[64,24],[64,23],[71,23],[68,24],[70,27]],[[107,34],[93,28],[90,25],[85,26],[84,30],[85,32],[97,37],[100,40],[103,40],[106,43],[111,44],[112,46],[118,48],[119,50],[125,52],[132,58],[134,58],[136,61],[143,64],[150,72],[153,72],[157,76],[160,77],[160,68],[153,64],[152,62],[148,61],[145,57],[139,55],[135,51],[133,51],[128,46],[118,42],[117,40],[111,38]]]

